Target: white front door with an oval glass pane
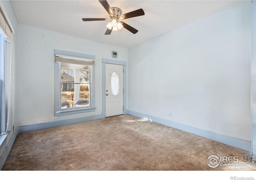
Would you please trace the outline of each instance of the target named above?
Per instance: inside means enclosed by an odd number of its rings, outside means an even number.
[[[124,114],[124,66],[106,64],[106,117]]]

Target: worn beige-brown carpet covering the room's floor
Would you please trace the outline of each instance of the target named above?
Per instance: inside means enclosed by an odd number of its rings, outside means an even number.
[[[2,170],[255,170],[210,168],[210,155],[250,152],[122,115],[18,134]]]

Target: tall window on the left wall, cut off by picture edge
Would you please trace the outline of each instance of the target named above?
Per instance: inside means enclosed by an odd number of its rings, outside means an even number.
[[[14,34],[14,29],[2,3],[0,3],[0,136],[7,136],[10,132],[8,131],[8,124],[12,97],[12,34]],[[2,137],[0,138],[0,146],[5,140]]]

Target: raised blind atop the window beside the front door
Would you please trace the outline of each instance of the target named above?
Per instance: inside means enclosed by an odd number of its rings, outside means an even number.
[[[73,56],[64,56],[64,55],[55,55],[56,62],[65,63],[65,64],[79,64],[79,65],[86,65],[86,66],[95,66],[94,59],[87,59],[87,58],[79,58]]]

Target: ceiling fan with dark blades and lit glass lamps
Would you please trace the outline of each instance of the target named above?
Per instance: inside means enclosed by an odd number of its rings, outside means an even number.
[[[138,9],[132,12],[128,12],[126,14],[122,14],[122,11],[119,8],[113,7],[110,8],[108,2],[106,0],[99,0],[100,4],[105,8],[105,10],[108,12],[110,18],[82,18],[83,21],[108,21],[108,24],[106,27],[108,28],[106,30],[106,35],[110,35],[112,31],[118,31],[122,29],[123,27],[132,32],[133,34],[136,34],[138,30],[133,28],[132,26],[129,26],[128,24],[124,22],[120,22],[119,20],[124,20],[128,18],[133,18],[136,16],[143,16],[144,11],[142,9]]]

